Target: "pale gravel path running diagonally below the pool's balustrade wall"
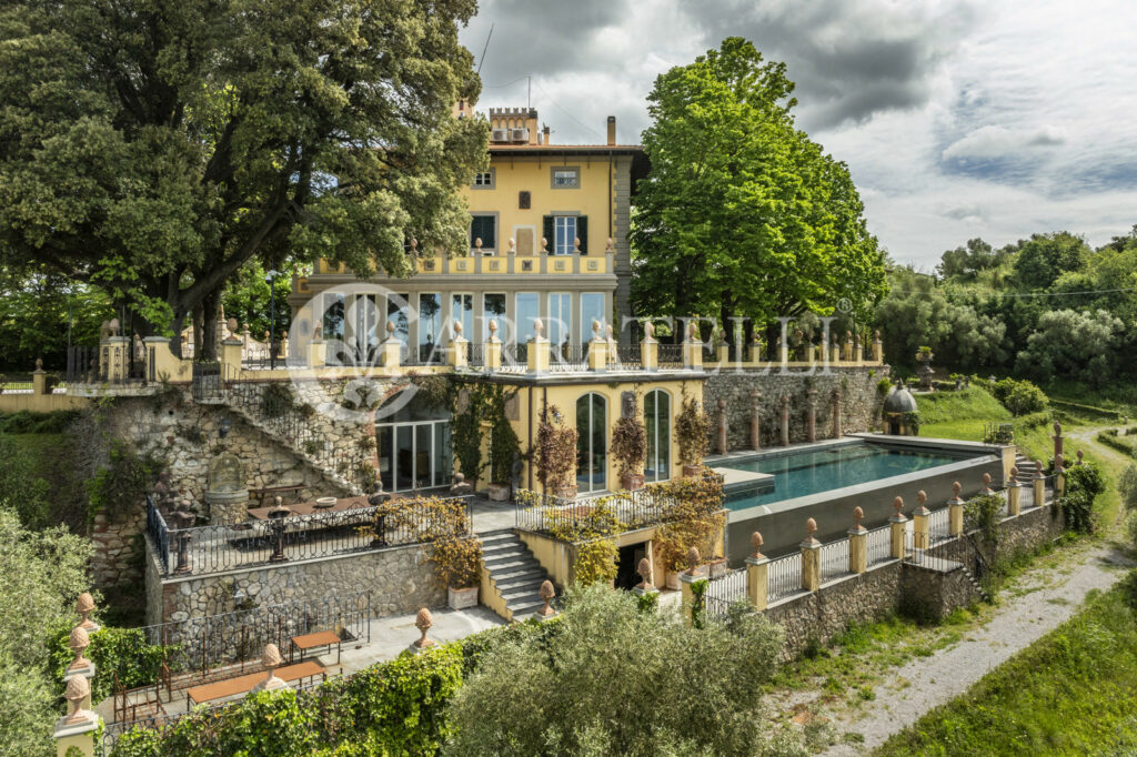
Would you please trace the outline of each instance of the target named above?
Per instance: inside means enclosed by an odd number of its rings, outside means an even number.
[[[1107,546],[1095,547],[1068,573],[1037,568],[1047,585],[1009,600],[984,627],[931,657],[915,658],[878,685],[877,698],[858,707],[855,719],[839,717],[838,732],[864,735],[864,743],[839,744],[827,755],[862,755],[914,723],[924,713],[965,692],[991,668],[1069,619],[1092,589],[1120,580],[1129,559]],[[1024,576],[1026,577],[1026,576]],[[1035,577],[1035,576],[1031,576]]]

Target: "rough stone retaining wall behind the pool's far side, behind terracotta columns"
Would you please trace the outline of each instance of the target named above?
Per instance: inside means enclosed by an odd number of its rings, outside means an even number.
[[[880,426],[883,397],[877,384],[888,375],[883,367],[837,367],[828,373],[779,373],[757,369],[721,371],[707,378],[703,390],[703,402],[712,419],[711,447],[715,449],[717,429],[717,402],[727,402],[728,451],[750,448],[750,391],[758,390],[761,413],[762,447],[781,443],[781,398],[790,400],[790,443],[808,441],[806,433],[807,392],[816,391],[818,439],[830,439],[832,429],[833,390],[841,391],[841,430],[845,433],[872,431]]]

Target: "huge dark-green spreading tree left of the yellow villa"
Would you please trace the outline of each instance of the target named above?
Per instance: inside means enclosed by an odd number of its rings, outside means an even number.
[[[156,331],[259,259],[410,271],[459,249],[485,158],[457,27],[475,0],[16,0],[0,11],[0,263]],[[144,324],[135,323],[143,333]],[[215,351],[202,328],[202,352]]]

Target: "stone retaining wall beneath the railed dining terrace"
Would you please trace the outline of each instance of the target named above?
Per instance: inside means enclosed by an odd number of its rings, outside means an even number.
[[[163,576],[152,547],[147,566],[147,623],[184,621],[236,609],[240,589],[249,602],[314,601],[370,590],[376,617],[446,604],[423,547],[392,547],[211,575]]]

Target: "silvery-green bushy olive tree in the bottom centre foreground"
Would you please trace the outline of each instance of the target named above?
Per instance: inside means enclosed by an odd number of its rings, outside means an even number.
[[[485,651],[448,716],[454,755],[764,755],[780,630],[754,613],[689,627],[628,592],[574,589],[545,639]],[[796,750],[795,750],[796,751]]]

